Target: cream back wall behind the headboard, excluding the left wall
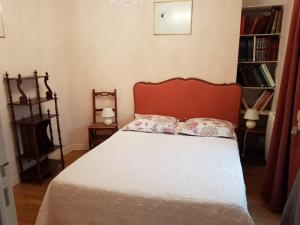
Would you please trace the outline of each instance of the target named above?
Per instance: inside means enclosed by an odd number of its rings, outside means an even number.
[[[87,2],[87,3],[86,3]],[[118,90],[121,125],[133,118],[137,81],[199,77],[234,82],[241,1],[195,0],[192,35],[154,36],[153,1],[124,7],[109,1],[70,2],[72,143],[86,143],[91,89]]]

